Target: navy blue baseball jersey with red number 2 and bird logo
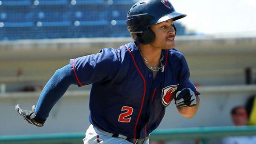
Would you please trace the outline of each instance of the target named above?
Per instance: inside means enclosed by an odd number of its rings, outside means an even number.
[[[155,79],[135,42],[71,59],[77,85],[92,83],[90,122],[110,133],[142,138],[159,126],[177,91],[191,88],[199,95],[189,80],[184,56],[175,49],[162,53],[165,70],[159,71]]]

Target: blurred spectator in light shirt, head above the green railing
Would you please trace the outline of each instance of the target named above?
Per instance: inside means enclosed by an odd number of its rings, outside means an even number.
[[[246,126],[248,113],[244,106],[236,106],[231,110],[232,120],[235,126]],[[223,139],[223,144],[256,144],[256,136],[231,136]]]

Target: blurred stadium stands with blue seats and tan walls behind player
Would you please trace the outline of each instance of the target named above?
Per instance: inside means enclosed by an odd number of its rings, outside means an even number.
[[[0,136],[84,132],[90,86],[70,87],[43,128],[22,123],[14,105],[36,104],[41,88],[69,59],[131,41],[126,14],[135,1],[0,0]],[[170,104],[159,129],[232,126],[231,108],[256,94],[256,35],[198,34],[175,24],[176,48],[188,61],[201,105],[186,120]]]

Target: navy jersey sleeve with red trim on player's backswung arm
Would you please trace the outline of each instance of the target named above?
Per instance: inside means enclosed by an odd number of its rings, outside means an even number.
[[[72,77],[79,87],[110,80],[120,67],[120,57],[114,48],[101,49],[99,53],[70,60]]]

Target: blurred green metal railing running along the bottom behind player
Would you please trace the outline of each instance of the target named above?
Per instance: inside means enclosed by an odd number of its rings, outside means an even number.
[[[201,127],[156,129],[150,135],[150,140],[185,140],[200,139],[201,144],[207,144],[211,138],[226,136],[254,136],[256,126],[241,127]],[[0,136],[0,144],[82,144],[84,132],[40,135]]]

